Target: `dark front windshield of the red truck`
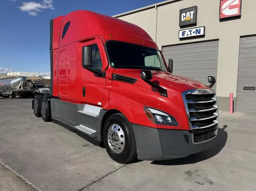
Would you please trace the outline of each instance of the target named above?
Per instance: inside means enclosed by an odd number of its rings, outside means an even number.
[[[132,43],[109,41],[108,57],[113,68],[149,69],[167,72],[160,51]]]

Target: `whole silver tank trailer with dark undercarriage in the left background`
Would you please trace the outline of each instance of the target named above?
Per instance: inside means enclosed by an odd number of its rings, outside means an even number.
[[[35,95],[35,84],[28,80],[27,77],[11,77],[0,79],[0,97],[15,98],[18,95],[20,98],[29,98]]]

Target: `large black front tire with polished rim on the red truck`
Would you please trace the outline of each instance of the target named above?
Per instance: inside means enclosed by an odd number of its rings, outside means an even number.
[[[123,114],[108,117],[103,127],[103,142],[108,155],[115,162],[127,164],[137,159],[133,129]]]

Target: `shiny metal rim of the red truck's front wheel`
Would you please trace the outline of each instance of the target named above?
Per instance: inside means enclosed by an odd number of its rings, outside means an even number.
[[[125,137],[123,129],[117,124],[111,125],[108,129],[107,141],[109,148],[113,152],[122,152],[125,146]]]

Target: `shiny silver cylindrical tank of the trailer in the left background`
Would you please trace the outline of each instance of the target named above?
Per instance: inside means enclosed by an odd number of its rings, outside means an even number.
[[[27,80],[27,77],[11,77],[0,79],[0,90],[3,92],[12,92],[21,88],[21,85]]]

